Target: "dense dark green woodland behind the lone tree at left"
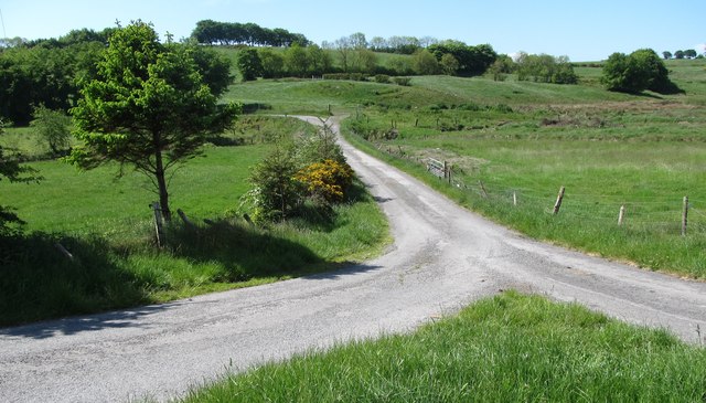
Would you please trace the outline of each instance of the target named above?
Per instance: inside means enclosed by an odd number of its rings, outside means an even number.
[[[40,106],[67,110],[74,105],[84,83],[97,77],[110,34],[103,31],[76,30],[58,39],[9,40],[0,47],[0,117],[4,123],[24,126]],[[215,51],[189,44],[199,72],[208,85],[222,93],[231,84],[229,61]]]

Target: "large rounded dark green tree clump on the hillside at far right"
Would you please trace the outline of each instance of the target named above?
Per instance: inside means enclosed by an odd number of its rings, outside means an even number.
[[[645,89],[673,94],[680,88],[670,79],[664,62],[651,49],[631,54],[613,53],[603,65],[601,82],[609,91],[638,94]]]

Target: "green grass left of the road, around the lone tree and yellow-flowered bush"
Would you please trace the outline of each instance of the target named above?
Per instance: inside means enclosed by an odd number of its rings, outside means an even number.
[[[31,166],[41,183],[0,182],[0,204],[15,206],[28,222],[24,236],[0,237],[0,326],[271,283],[378,253],[387,224],[361,185],[325,225],[258,227],[236,214],[252,167],[272,149],[258,141],[299,129],[311,130],[293,119],[242,117],[236,130],[214,141],[255,145],[207,146],[203,158],[178,171],[172,208],[197,227],[174,223],[163,251],[154,246],[148,208],[156,195],[137,172],[116,180],[116,166],[79,172],[38,161]]]

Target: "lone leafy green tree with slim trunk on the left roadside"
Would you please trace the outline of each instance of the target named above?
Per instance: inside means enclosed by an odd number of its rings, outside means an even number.
[[[110,36],[98,76],[72,109],[83,145],[68,160],[83,169],[117,161],[120,173],[127,166],[147,174],[171,220],[165,173],[197,156],[236,108],[216,106],[189,46],[161,44],[141,21]]]

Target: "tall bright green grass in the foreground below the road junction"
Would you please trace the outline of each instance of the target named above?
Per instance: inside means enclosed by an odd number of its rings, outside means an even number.
[[[700,402],[706,351],[514,291],[411,335],[269,363],[182,402]]]

